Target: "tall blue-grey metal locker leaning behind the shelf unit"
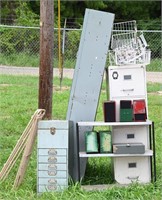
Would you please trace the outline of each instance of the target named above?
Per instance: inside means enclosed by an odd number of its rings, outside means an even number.
[[[73,83],[66,119],[73,121],[70,129],[70,175],[78,180],[78,156],[76,123],[94,121],[98,106],[107,52],[113,27],[114,14],[86,9],[80,39]],[[81,132],[93,127],[82,127]],[[80,134],[80,149],[85,150],[85,139]],[[81,176],[84,176],[86,158],[81,161]]]

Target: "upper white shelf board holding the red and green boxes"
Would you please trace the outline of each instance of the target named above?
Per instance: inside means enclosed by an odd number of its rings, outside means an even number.
[[[78,122],[78,126],[143,126],[151,124],[150,120],[145,122]]]

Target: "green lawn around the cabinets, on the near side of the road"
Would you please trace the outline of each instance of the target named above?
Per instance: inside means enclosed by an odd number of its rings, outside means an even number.
[[[64,79],[62,90],[59,79],[54,79],[53,119],[65,119],[72,81]],[[156,184],[132,184],[128,187],[112,187],[104,191],[86,192],[80,183],[72,183],[68,190],[60,193],[36,193],[36,145],[32,153],[23,184],[12,189],[19,162],[12,169],[5,182],[0,183],[0,200],[47,200],[47,199],[88,199],[88,200],[161,200],[162,196],[162,90],[160,84],[148,85],[149,118],[155,122],[156,133]],[[103,120],[102,101],[106,99],[105,84],[102,87],[97,120]],[[0,76],[0,169],[10,155],[18,138],[25,129],[38,105],[38,78],[29,76]],[[84,184],[112,183],[110,159],[89,159]]]

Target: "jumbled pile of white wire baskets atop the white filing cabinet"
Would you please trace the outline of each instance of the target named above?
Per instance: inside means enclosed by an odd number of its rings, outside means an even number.
[[[149,64],[151,51],[142,32],[137,32],[136,21],[114,24],[109,52],[110,64]]]

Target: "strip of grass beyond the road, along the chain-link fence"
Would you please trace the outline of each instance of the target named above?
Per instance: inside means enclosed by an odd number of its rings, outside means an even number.
[[[39,66],[39,54],[27,54],[27,53],[15,53],[15,54],[1,54],[0,64],[7,66],[18,66],[18,67],[38,67]],[[76,63],[75,56],[71,59],[64,59],[64,68],[74,68]],[[57,55],[54,57],[54,68],[58,67]],[[159,58],[154,58],[151,63],[147,66],[147,71],[162,72],[162,61]]]

